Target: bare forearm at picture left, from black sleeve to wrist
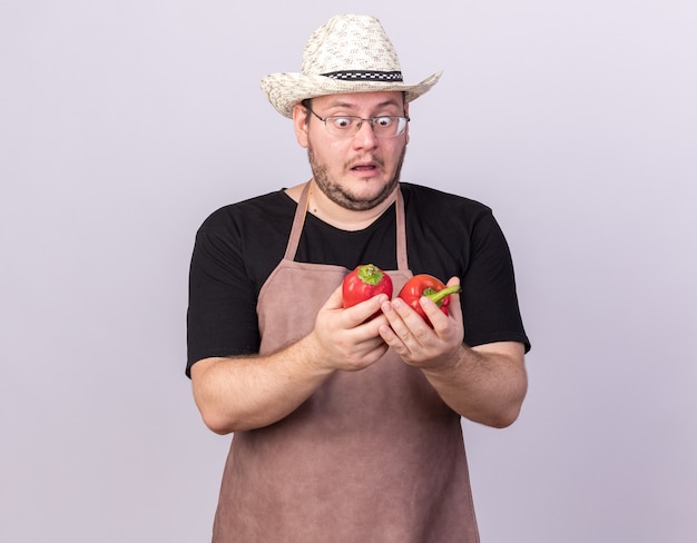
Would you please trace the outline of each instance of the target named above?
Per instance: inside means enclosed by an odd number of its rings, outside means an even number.
[[[308,338],[268,356],[205,358],[192,366],[196,405],[218,434],[258,428],[297,408],[332,374]]]

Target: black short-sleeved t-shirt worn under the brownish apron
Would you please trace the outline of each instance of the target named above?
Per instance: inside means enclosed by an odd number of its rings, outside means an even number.
[[[474,200],[402,182],[406,251],[413,274],[460,277],[464,340],[520,342],[530,348],[505,238],[491,209]],[[258,352],[256,303],[285,253],[296,203],[283,190],[233,204],[202,225],[189,274],[188,363]],[[353,269],[396,268],[394,205],[363,230],[307,214],[295,259]]]

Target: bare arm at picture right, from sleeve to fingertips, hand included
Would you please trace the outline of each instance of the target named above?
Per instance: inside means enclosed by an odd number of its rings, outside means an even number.
[[[449,285],[457,282],[453,278]],[[429,298],[421,299],[433,328],[399,298],[383,304],[390,326],[380,333],[406,364],[421,368],[453,411],[488,426],[509,426],[518,417],[528,388],[523,345],[467,346],[460,296],[451,296],[448,316]]]

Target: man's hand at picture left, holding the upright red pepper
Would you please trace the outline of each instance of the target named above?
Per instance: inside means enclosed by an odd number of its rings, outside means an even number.
[[[345,372],[363,369],[380,359],[387,351],[379,333],[381,326],[387,326],[380,307],[387,300],[386,295],[380,294],[344,309],[340,286],[317,313],[308,336],[314,346],[312,359],[330,369]],[[379,316],[369,319],[375,313]]]

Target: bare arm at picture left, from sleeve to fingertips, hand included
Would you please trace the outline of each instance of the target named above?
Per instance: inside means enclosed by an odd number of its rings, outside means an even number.
[[[342,309],[338,287],[304,338],[268,356],[204,358],[192,366],[196,405],[218,434],[258,428],[291,414],[336,371],[359,371],[387,349],[385,317],[364,320],[386,296]]]

